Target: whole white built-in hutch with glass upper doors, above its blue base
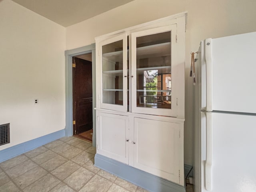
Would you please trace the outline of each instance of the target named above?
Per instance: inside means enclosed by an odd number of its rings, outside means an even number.
[[[96,38],[97,154],[180,185],[185,17]]]

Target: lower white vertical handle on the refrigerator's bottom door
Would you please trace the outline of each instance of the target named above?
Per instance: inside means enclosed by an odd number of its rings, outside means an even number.
[[[205,188],[212,190],[212,113],[206,112]]]

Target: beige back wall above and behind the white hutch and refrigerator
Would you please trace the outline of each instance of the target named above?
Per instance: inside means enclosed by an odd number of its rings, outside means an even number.
[[[192,79],[190,52],[200,40],[256,31],[256,0],[135,0],[66,28],[66,49],[89,45],[94,37],[188,11],[184,162],[192,164]]]

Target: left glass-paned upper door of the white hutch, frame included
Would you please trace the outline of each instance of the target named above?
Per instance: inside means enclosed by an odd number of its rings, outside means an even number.
[[[100,107],[127,111],[127,36],[100,43],[102,90]]]

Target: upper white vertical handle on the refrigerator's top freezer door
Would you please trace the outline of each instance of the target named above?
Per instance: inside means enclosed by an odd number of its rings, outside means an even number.
[[[206,111],[212,111],[212,38],[205,40]]]

